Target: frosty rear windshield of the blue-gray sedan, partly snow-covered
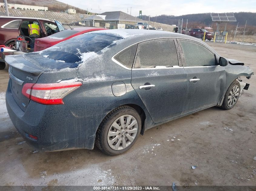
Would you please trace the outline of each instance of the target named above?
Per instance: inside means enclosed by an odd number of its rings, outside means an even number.
[[[47,59],[59,62],[79,63],[120,39],[120,37],[103,34],[85,33],[58,43],[39,53]]]

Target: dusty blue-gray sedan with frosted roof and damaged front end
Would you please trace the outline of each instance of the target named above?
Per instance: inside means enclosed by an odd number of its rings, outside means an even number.
[[[85,33],[40,52],[7,56],[6,107],[41,151],[127,151],[145,130],[235,106],[253,71],[194,37],[157,30]]]

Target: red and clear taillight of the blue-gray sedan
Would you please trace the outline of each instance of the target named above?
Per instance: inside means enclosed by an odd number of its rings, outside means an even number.
[[[81,82],[52,84],[26,83],[22,88],[22,94],[35,102],[45,105],[64,104],[63,98],[81,85]]]

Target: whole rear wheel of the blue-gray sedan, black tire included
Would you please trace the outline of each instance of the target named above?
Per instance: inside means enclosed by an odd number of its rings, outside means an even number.
[[[127,120],[130,120],[128,125],[126,125]],[[127,128],[131,123],[133,126]],[[122,154],[134,145],[140,132],[141,118],[138,112],[132,107],[120,106],[102,120],[96,132],[95,145],[105,154]],[[124,144],[123,140],[125,140]]]

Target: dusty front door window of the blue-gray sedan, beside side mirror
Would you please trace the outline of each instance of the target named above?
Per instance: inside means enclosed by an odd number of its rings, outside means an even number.
[[[213,66],[216,65],[214,53],[204,46],[185,40],[180,40],[186,63],[183,66]]]

